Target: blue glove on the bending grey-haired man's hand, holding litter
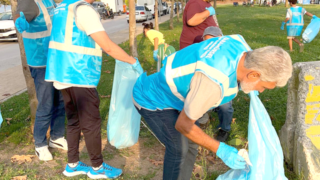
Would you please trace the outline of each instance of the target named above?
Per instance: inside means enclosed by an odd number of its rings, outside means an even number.
[[[246,162],[241,155],[237,154],[236,148],[220,142],[216,155],[220,157],[223,162],[232,169],[244,169]]]

